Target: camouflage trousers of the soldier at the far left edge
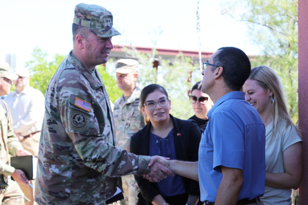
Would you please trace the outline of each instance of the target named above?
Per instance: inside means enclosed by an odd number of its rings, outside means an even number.
[[[0,189],[0,205],[25,205],[24,195],[15,181],[10,181],[6,189]]]

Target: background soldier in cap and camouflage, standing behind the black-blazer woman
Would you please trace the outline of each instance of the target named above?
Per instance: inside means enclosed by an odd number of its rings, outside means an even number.
[[[113,117],[118,147],[130,152],[131,136],[144,127],[144,118],[140,112],[140,93],[137,87],[138,61],[120,59],[116,62],[116,81],[123,95],[115,101]],[[124,201],[119,204],[137,204],[139,187],[133,175],[122,177]]]

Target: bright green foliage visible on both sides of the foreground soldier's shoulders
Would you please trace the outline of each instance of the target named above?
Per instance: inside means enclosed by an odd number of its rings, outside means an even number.
[[[48,54],[46,51],[44,52],[37,47],[34,48],[34,51],[32,53],[32,59],[26,62],[26,68],[29,69],[31,75],[31,87],[40,90],[45,95],[47,86],[51,78],[55,74],[61,62],[66,57],[67,56],[55,54],[53,59],[49,62],[47,61]],[[110,100],[114,102],[115,99],[117,99],[121,95],[121,92],[117,88],[114,77],[109,75],[109,73],[106,71],[105,65],[98,65],[96,67],[102,77]]]

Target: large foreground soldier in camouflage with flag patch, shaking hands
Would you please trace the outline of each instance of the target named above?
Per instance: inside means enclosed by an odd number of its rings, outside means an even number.
[[[120,34],[112,25],[105,8],[76,5],[73,50],[45,95],[35,186],[40,205],[105,205],[121,189],[122,175],[149,172],[158,181],[170,173],[158,163],[148,168],[157,156],[136,156],[115,147],[109,97],[95,68],[107,62],[111,37]]]

